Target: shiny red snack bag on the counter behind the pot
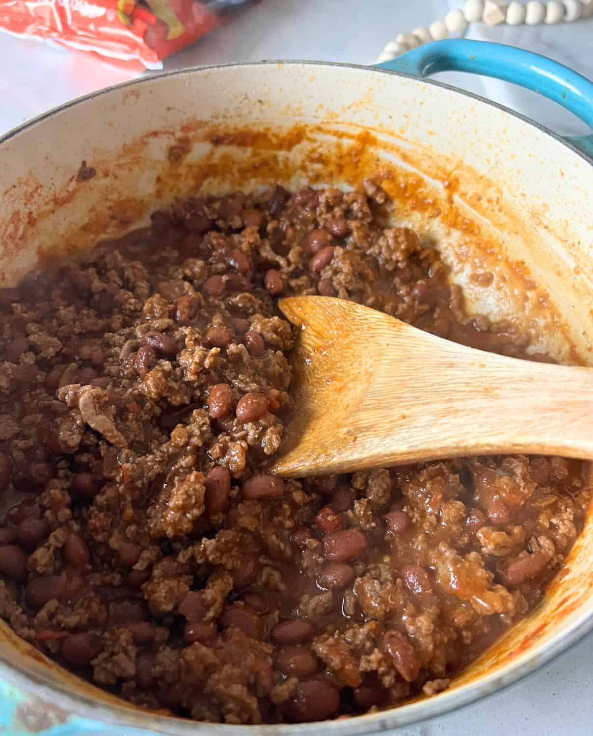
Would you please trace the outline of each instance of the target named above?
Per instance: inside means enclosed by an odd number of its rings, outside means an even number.
[[[198,0],[0,0],[0,30],[150,69],[216,24]]]

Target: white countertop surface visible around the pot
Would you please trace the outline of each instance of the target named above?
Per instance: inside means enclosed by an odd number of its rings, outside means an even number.
[[[231,22],[166,60],[166,70],[231,61],[317,59],[371,64],[389,38],[443,16],[444,0],[262,0]],[[364,12],[361,13],[362,8]],[[363,15],[365,23],[360,23]],[[593,21],[593,18],[591,19]],[[591,32],[589,21],[574,32]],[[580,27],[577,27],[579,26]],[[514,29],[507,29],[509,32]],[[564,33],[566,34],[566,29]],[[589,37],[590,38],[590,37]],[[512,41],[503,38],[507,43]],[[0,135],[27,118],[74,97],[137,77],[93,54],[0,35]],[[477,93],[493,93],[479,79],[443,79]],[[497,88],[498,89],[498,88]],[[498,94],[498,91],[494,92]],[[550,108],[552,109],[552,108]],[[558,115],[559,127],[566,122]],[[581,132],[567,130],[566,132]],[[582,130],[584,132],[584,130]],[[593,634],[519,684],[399,736],[590,736],[593,733]]]

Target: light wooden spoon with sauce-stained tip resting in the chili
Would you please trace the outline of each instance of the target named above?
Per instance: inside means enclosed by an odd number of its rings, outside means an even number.
[[[593,458],[593,370],[505,358],[329,297],[290,297],[292,417],[271,473],[466,455]]]

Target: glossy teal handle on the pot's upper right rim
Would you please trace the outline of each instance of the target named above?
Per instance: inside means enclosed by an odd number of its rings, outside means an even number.
[[[469,71],[504,79],[558,102],[593,130],[593,82],[563,64],[513,46],[464,39],[434,41],[376,66],[414,77]],[[593,133],[564,140],[593,158]]]

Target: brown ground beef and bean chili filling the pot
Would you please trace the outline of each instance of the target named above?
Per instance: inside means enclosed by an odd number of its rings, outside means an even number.
[[[0,616],[21,637],[142,707],[281,723],[438,693],[541,600],[586,464],[266,473],[298,411],[278,297],[525,357],[394,220],[371,180],[193,197],[0,290]]]

